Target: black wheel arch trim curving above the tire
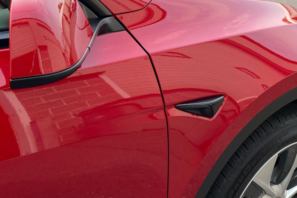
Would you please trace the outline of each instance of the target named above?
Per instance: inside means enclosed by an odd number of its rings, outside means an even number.
[[[274,114],[276,111],[281,109],[283,106],[293,102],[297,99],[297,88],[280,96],[268,106],[266,106],[260,113],[258,113],[233,139],[233,141],[224,150],[222,155],[219,157],[217,162],[212,167],[211,171],[206,176],[204,182],[200,186],[195,198],[204,198],[214,183],[215,179],[231,158],[233,153],[238,149],[238,147],[244,142],[245,139],[268,117]]]

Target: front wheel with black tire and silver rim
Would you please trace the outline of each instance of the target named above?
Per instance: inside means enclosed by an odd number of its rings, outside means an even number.
[[[207,198],[290,198],[297,192],[297,106],[287,105],[241,144]]]

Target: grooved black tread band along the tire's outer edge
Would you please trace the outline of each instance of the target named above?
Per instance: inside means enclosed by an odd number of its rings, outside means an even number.
[[[219,173],[214,184],[211,186],[206,198],[226,197],[230,183],[236,178],[236,173],[241,170],[241,166],[247,161],[253,151],[261,146],[269,136],[280,129],[297,121],[296,103],[288,104],[276,113],[271,115],[260,126],[253,131],[249,137],[238,147],[236,152],[229,159],[222,171]]]

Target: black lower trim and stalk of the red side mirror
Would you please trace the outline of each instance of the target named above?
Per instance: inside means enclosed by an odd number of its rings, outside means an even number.
[[[100,31],[101,28],[104,28],[106,23],[108,23],[110,21],[110,18],[113,18],[113,17],[107,17],[107,18],[104,18],[101,21],[99,21],[96,29],[94,30],[94,34],[91,38],[91,41],[90,41],[85,53],[83,54],[81,59],[75,65],[73,65],[65,70],[55,72],[55,73],[44,74],[44,75],[39,75],[39,76],[32,76],[32,77],[25,77],[25,78],[13,78],[10,80],[10,88],[11,89],[22,89],[22,88],[36,87],[36,86],[40,86],[40,85],[50,84],[50,83],[59,81],[63,78],[70,76],[71,74],[73,74],[78,69],[78,67],[83,63],[83,61],[86,59],[86,56],[89,54],[89,51],[92,48],[92,45],[98,35],[98,32]]]

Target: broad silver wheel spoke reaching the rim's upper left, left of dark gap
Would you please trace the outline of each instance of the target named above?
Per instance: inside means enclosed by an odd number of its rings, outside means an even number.
[[[274,197],[276,194],[274,189],[271,188],[271,176],[274,169],[275,162],[277,161],[278,155],[274,155],[270,158],[256,173],[253,181],[259,185],[266,194]]]

